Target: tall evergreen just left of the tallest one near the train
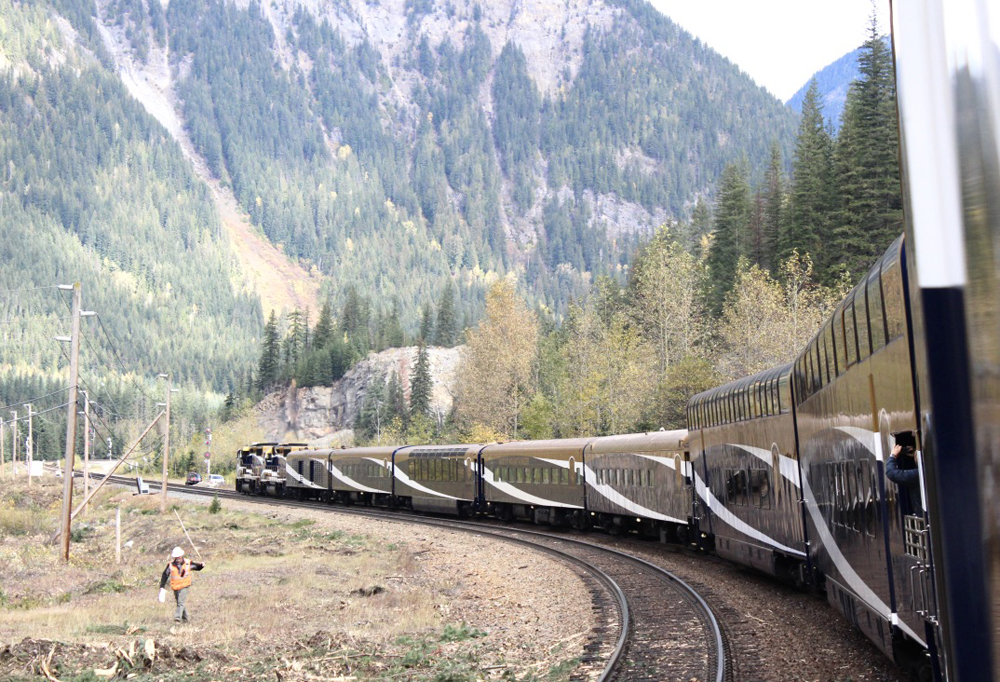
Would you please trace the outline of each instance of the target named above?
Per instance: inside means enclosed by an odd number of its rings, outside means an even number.
[[[787,260],[796,249],[818,258],[824,253],[824,243],[829,245],[831,151],[830,135],[823,123],[819,85],[814,78],[802,102],[788,220],[778,237],[779,261]],[[823,269],[822,264],[819,269]]]

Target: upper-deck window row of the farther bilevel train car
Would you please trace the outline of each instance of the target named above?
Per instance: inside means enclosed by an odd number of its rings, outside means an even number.
[[[733,422],[772,417],[791,411],[792,395],[789,375],[782,374],[739,386],[721,389],[699,400],[688,413],[693,428],[708,428]]]

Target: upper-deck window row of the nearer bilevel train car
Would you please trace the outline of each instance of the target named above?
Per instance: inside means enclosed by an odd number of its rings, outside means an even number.
[[[901,336],[905,315],[899,262],[888,260],[881,273],[876,266],[855,288],[795,362],[800,400]]]

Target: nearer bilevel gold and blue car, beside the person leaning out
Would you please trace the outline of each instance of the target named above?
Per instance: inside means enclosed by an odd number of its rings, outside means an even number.
[[[929,594],[926,502],[885,477],[891,434],[917,433],[905,282],[900,238],[800,353],[794,382],[803,506],[827,597],[903,656],[926,646],[917,610]]]

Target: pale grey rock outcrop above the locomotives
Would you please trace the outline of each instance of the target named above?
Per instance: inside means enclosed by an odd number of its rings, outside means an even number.
[[[461,346],[427,349],[433,383],[431,409],[437,414],[451,411],[461,349]],[[369,353],[333,386],[292,385],[285,391],[272,393],[257,406],[257,417],[268,439],[317,446],[350,444],[354,420],[372,383],[388,382],[395,372],[409,400],[410,373],[416,360],[416,346]]]

